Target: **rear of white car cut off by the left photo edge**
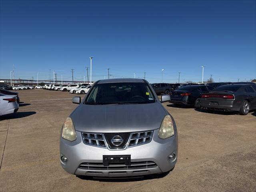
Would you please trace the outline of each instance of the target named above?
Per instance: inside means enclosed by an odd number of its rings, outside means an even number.
[[[0,116],[15,113],[19,109],[16,95],[5,95],[0,93]]]

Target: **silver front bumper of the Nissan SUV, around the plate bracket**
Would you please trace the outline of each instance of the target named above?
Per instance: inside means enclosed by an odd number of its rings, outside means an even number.
[[[74,142],[60,138],[60,158],[66,156],[68,159],[67,162],[60,160],[61,166],[70,174],[103,177],[139,176],[168,172],[177,162],[177,134],[167,139],[160,139],[157,129],[150,143],[125,150],[88,146],[82,142],[81,132],[76,131],[76,134],[77,139]],[[175,154],[176,157],[170,160],[168,158],[170,154]],[[103,166],[103,155],[131,155],[131,166]]]

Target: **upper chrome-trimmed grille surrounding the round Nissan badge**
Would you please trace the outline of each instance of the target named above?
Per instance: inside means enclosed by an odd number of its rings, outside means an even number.
[[[130,147],[135,147],[151,142],[154,130],[144,132],[131,132],[131,133],[89,133],[82,132],[82,140],[84,144],[108,148],[109,150],[123,150]],[[111,139],[119,135],[124,141],[120,146],[112,144]]]

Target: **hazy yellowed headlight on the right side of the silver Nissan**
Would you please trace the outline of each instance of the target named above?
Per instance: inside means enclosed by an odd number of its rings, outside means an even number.
[[[174,128],[172,123],[172,118],[170,115],[166,115],[161,123],[158,137],[161,139],[166,139],[174,135]]]

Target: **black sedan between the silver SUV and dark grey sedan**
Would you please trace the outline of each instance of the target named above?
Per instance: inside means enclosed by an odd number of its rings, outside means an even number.
[[[206,85],[189,85],[170,92],[170,103],[176,105],[193,105],[200,108],[201,95],[214,89]]]

